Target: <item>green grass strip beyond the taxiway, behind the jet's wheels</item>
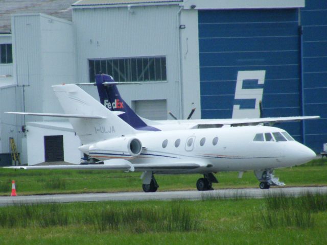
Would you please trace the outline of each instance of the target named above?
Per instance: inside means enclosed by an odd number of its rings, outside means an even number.
[[[286,186],[327,185],[327,160],[317,159],[305,165],[276,169],[275,175]],[[108,170],[13,170],[0,168],[0,195],[10,195],[15,180],[18,195],[44,193],[82,193],[142,191],[141,173]],[[219,188],[258,188],[252,171],[238,179],[237,172],[218,173]],[[196,190],[201,175],[156,175],[158,191]]]

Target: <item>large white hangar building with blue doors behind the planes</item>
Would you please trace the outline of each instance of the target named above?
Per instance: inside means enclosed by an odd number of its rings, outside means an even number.
[[[262,100],[265,117],[320,115],[278,127],[316,152],[327,142],[324,0],[52,2],[56,14],[13,12],[11,32],[0,34],[0,157],[13,137],[22,164],[79,163],[67,121],[3,112],[61,113],[51,85],[94,82],[99,72],[142,82],[119,89],[149,119],[192,108],[193,118],[258,117]],[[94,86],[82,88],[98,99]]]

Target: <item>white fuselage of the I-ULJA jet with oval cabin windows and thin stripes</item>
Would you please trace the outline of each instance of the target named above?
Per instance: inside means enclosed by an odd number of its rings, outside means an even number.
[[[294,141],[256,141],[256,134],[285,132],[266,126],[227,127],[179,131],[143,132],[82,146],[81,151],[99,160],[123,158],[133,164],[202,162],[200,169],[178,173],[206,173],[280,168],[306,163],[315,153]],[[132,156],[126,145],[130,138],[142,142],[143,150]],[[286,139],[286,138],[285,138]],[[212,166],[207,167],[208,164]],[[169,170],[169,173],[176,172]],[[166,173],[165,169],[156,173]]]

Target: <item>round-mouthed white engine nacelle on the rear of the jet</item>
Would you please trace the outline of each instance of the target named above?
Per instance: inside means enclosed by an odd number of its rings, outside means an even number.
[[[80,148],[80,150],[82,150],[82,148],[83,146]],[[119,137],[91,144],[89,145],[88,150],[90,153],[109,153],[112,155],[118,155],[119,157],[123,156],[123,158],[124,155],[137,157],[142,152],[142,142],[135,137]]]

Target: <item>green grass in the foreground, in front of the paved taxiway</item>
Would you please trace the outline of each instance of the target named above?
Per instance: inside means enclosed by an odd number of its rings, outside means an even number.
[[[326,196],[301,199],[0,207],[0,244],[326,244],[327,211],[320,205]],[[269,213],[297,212],[299,202],[311,207],[310,220],[294,216],[300,222],[272,225],[265,220]]]

